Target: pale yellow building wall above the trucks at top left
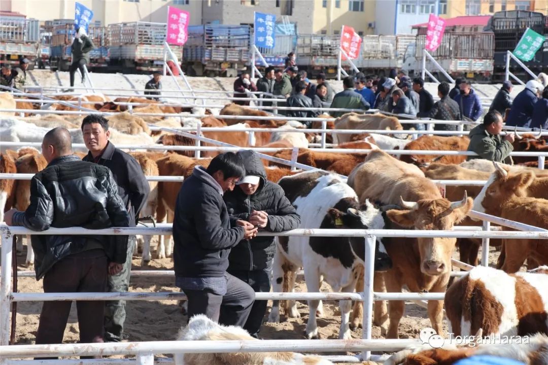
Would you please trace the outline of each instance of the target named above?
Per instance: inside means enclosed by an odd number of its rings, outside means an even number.
[[[75,0],[0,0],[3,4],[2,10],[18,11],[27,18],[40,21],[74,19],[75,2]],[[140,2],[78,0],[78,2],[92,9],[92,21],[99,20],[102,25],[131,21],[165,23],[168,6],[189,11],[191,25],[202,24],[201,0],[191,0],[188,5],[174,5],[173,1],[165,0],[141,0]]]

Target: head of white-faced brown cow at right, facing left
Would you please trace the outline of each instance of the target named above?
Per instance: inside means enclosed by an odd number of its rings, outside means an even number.
[[[496,170],[474,199],[473,210],[500,217],[504,202],[527,196],[526,189],[533,183],[535,174],[532,171],[510,173],[509,167],[493,164]]]

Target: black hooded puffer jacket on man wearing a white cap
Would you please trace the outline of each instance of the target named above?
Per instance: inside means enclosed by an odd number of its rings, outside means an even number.
[[[246,165],[246,175],[260,177],[259,188],[253,195],[245,194],[239,187],[226,192],[224,200],[235,224],[237,219],[248,221],[251,212],[265,211],[269,215],[265,228],[269,232],[283,232],[298,228],[301,218],[286,198],[283,189],[266,179],[266,172],[259,155],[252,150],[238,152]],[[229,256],[230,270],[263,270],[274,257],[276,246],[274,236],[257,236],[252,240],[240,241],[232,248]]]

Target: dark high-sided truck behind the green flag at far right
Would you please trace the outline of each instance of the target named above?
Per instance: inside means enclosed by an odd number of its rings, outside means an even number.
[[[535,11],[509,10],[493,14],[486,27],[495,34],[493,80],[504,81],[506,72],[506,51],[513,51],[527,28],[544,34],[544,45],[536,52],[533,60],[523,62],[534,74],[548,69],[548,16]],[[510,71],[522,80],[530,75],[515,60],[510,60]]]

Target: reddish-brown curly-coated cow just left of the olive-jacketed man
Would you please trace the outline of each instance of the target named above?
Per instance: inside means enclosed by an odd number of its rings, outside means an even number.
[[[447,150],[447,151],[465,151],[470,143],[468,137],[457,136],[421,136],[414,141],[406,144],[406,150]],[[439,164],[460,164],[466,161],[465,155],[402,155],[400,160],[415,164],[419,167],[426,167],[433,160]]]

